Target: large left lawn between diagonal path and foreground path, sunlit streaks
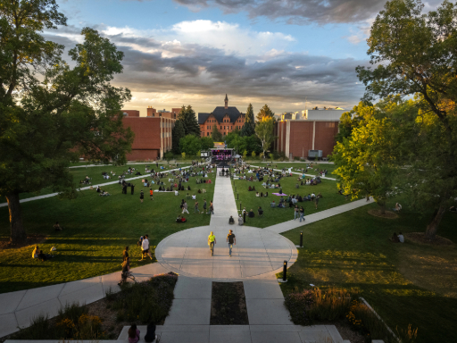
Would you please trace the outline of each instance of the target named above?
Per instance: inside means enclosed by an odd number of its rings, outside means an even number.
[[[210,174],[210,179],[214,180],[214,177],[215,173]],[[169,185],[168,179],[162,180]],[[195,178],[190,178],[184,185],[191,187],[189,194],[206,188],[205,194],[196,194],[196,197],[201,210],[204,198],[209,207],[214,183],[197,185]],[[74,200],[50,197],[23,203],[22,218],[28,234],[46,235],[46,241],[39,247],[46,253],[53,246],[57,251],[53,252],[53,259],[41,262],[31,258],[33,246],[0,250],[0,293],[120,271],[125,246],[131,249],[132,267],[149,264],[149,261],[137,262],[140,257],[137,240],[141,235],[149,234],[151,247],[154,247],[174,232],[210,223],[209,214],[194,214],[195,202],[192,200],[187,200],[190,213],[186,215],[187,222],[175,222],[180,213],[179,204],[187,191],[180,192],[182,197],[156,192],[151,201],[149,191],[143,188],[145,201],[141,204],[139,182],[133,196],[121,194],[117,184],[104,189],[112,196],[99,197],[95,190],[84,190]],[[7,207],[0,208],[0,218],[0,239],[9,240]],[[52,229],[56,221],[63,226],[62,232]]]

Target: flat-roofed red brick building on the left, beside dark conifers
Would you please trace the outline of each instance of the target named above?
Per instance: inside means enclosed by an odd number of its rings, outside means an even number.
[[[154,110],[154,112],[153,112]],[[156,112],[154,108],[147,109],[147,116],[140,117],[139,111],[122,110],[124,126],[135,133],[132,151],[127,155],[129,161],[155,160],[171,150],[171,130],[178,113],[173,108],[171,112]]]

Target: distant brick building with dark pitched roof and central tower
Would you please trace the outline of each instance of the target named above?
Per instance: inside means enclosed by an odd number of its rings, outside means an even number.
[[[225,95],[225,106],[216,107],[212,113],[198,113],[198,123],[202,137],[211,136],[212,128],[217,126],[222,136],[233,130],[241,130],[245,124],[245,113],[240,113],[237,107],[228,107],[228,96]]]

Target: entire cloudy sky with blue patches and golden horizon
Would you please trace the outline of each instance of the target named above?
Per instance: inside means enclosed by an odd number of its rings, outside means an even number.
[[[435,0],[433,0],[435,1]],[[125,53],[113,80],[145,115],[192,105],[257,113],[312,106],[350,109],[363,94],[366,38],[384,0],[57,0],[68,26],[46,38],[71,48],[98,29]],[[433,5],[433,4],[432,4]],[[426,4],[427,8],[428,4]]]

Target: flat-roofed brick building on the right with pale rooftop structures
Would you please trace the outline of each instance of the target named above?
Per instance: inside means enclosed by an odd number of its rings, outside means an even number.
[[[309,150],[322,150],[327,157],[336,145],[338,123],[345,110],[306,110],[295,115],[281,115],[273,134],[274,149],[289,158],[306,158]]]

